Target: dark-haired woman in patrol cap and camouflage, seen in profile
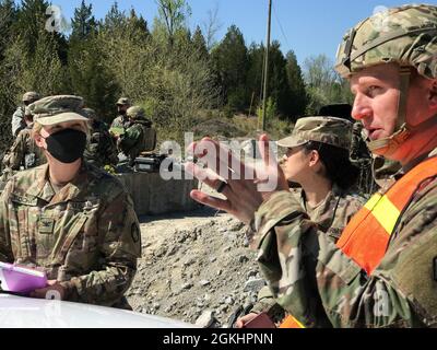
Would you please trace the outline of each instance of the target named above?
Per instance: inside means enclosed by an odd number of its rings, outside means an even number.
[[[352,126],[351,121],[335,117],[300,118],[292,136],[277,141],[280,147],[288,149],[286,161],[281,165],[285,178],[303,187],[291,191],[332,242],[339,240],[366,202],[364,197],[351,191],[358,175],[349,160]],[[251,313],[241,317],[237,326],[243,327],[262,312],[276,322],[284,315],[268,287],[260,291]]]

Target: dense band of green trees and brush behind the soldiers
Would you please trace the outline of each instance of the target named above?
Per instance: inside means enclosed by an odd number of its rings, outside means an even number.
[[[145,108],[160,139],[179,141],[205,115],[213,116],[212,121],[221,120],[218,129],[226,129],[235,122],[235,115],[261,105],[263,45],[247,47],[235,25],[214,44],[220,27],[217,10],[210,13],[203,33],[197,26],[191,34],[187,0],[156,2],[158,15],[150,32],[147,22],[133,9],[120,11],[115,2],[97,21],[90,1],[82,0],[67,39],[62,33],[45,28],[49,1],[15,4],[0,0],[0,127],[10,130],[11,116],[26,91],[81,95],[107,122],[116,115],[116,100],[125,95]],[[293,51],[284,57],[280,44],[273,42],[269,56],[270,132],[287,133],[288,121],[305,112],[352,101],[347,83],[333,72],[326,57],[307,60],[304,80]],[[216,113],[209,112],[212,109]],[[262,108],[256,112],[259,116]],[[246,124],[247,133],[256,130],[257,118],[240,121],[232,130],[245,133]],[[8,131],[0,136],[0,151],[11,142]],[[240,135],[234,131],[222,135]]]

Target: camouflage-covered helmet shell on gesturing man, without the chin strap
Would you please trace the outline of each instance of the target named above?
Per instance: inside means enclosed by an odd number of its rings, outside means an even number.
[[[343,37],[336,71],[344,78],[363,68],[395,62],[437,78],[437,7],[409,4],[378,12]]]

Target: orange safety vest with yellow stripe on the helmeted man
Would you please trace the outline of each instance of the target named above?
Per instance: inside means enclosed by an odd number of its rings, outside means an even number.
[[[406,173],[386,195],[376,194],[344,229],[336,246],[367,275],[382,260],[390,236],[414,194],[437,176],[437,158],[430,158]],[[284,326],[283,326],[284,325]],[[287,316],[280,328],[304,328]]]

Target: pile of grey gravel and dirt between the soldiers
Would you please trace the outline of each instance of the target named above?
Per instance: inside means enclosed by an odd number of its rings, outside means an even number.
[[[217,328],[256,302],[265,282],[243,223],[205,208],[141,221],[143,257],[127,293],[134,311]]]

